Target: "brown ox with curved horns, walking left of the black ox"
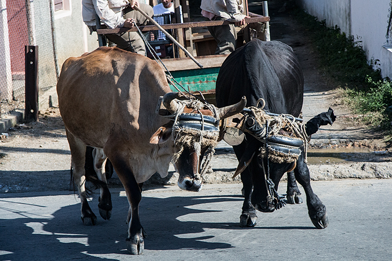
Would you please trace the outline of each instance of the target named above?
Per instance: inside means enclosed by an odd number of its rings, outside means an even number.
[[[94,167],[98,178],[106,184],[104,163],[108,158],[116,170],[129,202],[127,249],[141,254],[144,231],[139,220],[141,186],[155,172],[168,175],[173,153],[178,152],[172,139],[173,121],[155,113],[159,97],[169,112],[175,112],[177,95],[170,94],[165,72],[154,61],[118,48],[100,47],[77,58],[65,61],[57,94],[61,116],[72,154],[73,180],[81,200],[81,218],[85,225],[94,225],[85,190],[86,145],[95,147]],[[245,99],[222,109],[184,109],[184,113],[228,117],[245,106]],[[228,112],[228,113],[227,113]],[[198,191],[202,180],[198,173],[205,146],[199,158],[192,147],[182,148],[174,164],[180,174],[181,189]],[[201,159],[200,159],[201,158]],[[107,185],[100,191],[99,213],[109,219],[112,210]],[[130,222],[129,222],[130,221]]]

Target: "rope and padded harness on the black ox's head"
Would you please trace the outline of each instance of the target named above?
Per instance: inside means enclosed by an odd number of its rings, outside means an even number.
[[[259,103],[262,102],[261,107]],[[301,155],[301,147],[304,147],[307,162],[307,142],[310,137],[306,134],[305,124],[296,122],[292,115],[272,115],[263,109],[264,99],[260,98],[256,106],[249,107],[246,114],[241,118],[243,123],[237,123],[241,130],[249,133],[264,145],[258,150],[258,156],[262,159],[262,167],[267,189],[267,203],[276,210],[284,207],[284,196],[280,196],[275,190],[275,184],[270,179],[270,162],[278,164],[295,163]],[[238,118],[237,118],[238,119]],[[233,121],[234,122],[234,121]],[[225,126],[223,126],[225,129]],[[266,159],[267,166],[265,166]],[[295,167],[295,165],[294,165]],[[294,169],[293,167],[293,169]],[[236,174],[233,178],[239,174]]]

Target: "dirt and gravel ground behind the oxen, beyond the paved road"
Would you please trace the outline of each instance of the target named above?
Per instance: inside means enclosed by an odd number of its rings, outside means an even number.
[[[261,12],[260,1],[249,9]],[[340,102],[336,84],[319,70],[316,52],[304,30],[286,11],[281,0],[269,1],[271,40],[293,47],[304,73],[302,115],[308,120],[332,107],[338,117],[323,126],[309,143],[309,169],[313,180],[339,178],[392,178],[392,150],[380,134],[357,121],[358,115]],[[39,122],[20,122],[0,136],[0,193],[70,190],[71,154],[58,108],[40,113]],[[232,148],[221,142],[213,159],[214,172],[206,183],[238,183],[231,176],[237,166]],[[147,186],[175,185],[171,167],[168,177],[154,175]],[[121,186],[116,175],[112,186]]]

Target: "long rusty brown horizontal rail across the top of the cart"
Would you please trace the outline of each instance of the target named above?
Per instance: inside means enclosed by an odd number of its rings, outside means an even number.
[[[264,23],[269,22],[270,17],[267,16],[259,16],[256,15],[255,17],[245,18],[246,24],[252,23]],[[228,22],[227,20],[224,21],[203,21],[203,22],[191,22],[191,23],[183,23],[183,24],[162,24],[162,28],[165,30],[167,29],[178,29],[178,28],[193,28],[193,27],[204,27],[204,26],[215,26],[215,25],[224,25],[224,24],[233,24]],[[146,26],[139,26],[139,29],[143,32],[151,31],[151,30],[158,30],[158,27],[155,25],[146,25]],[[109,33],[124,33],[124,32],[136,32],[137,28],[114,28],[114,29],[99,29],[97,30],[98,34],[109,34]]]

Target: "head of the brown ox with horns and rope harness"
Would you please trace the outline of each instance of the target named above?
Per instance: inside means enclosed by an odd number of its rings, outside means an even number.
[[[238,114],[245,105],[245,97],[223,108],[181,93],[168,93],[161,98],[156,112],[173,122],[172,140],[177,152],[172,156],[172,163],[179,173],[180,189],[199,191],[202,188],[203,175],[211,169],[214,147],[219,141],[220,119]]]

